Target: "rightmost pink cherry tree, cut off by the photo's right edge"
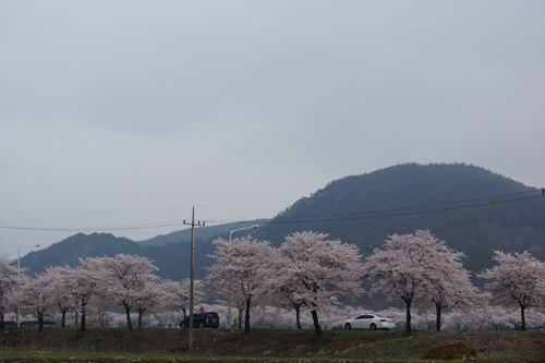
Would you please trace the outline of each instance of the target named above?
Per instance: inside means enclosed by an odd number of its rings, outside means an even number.
[[[526,308],[544,303],[545,264],[528,251],[522,253],[495,251],[494,261],[497,265],[485,269],[479,277],[489,281],[485,286],[487,290],[499,292],[497,295],[499,303],[506,306],[513,303],[519,305],[524,331]]]

